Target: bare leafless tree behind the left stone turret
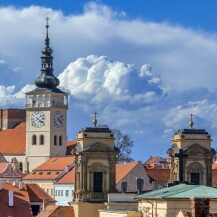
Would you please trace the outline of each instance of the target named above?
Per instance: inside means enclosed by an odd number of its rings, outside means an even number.
[[[134,146],[130,136],[123,134],[120,130],[112,130],[114,133],[115,147],[119,148],[118,163],[132,162],[134,159],[130,156],[132,154],[132,148]]]

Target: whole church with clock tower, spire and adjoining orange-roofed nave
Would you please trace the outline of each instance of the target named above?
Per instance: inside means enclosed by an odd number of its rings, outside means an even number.
[[[51,157],[67,154],[68,94],[58,88],[59,79],[53,74],[48,29],[47,20],[41,74],[35,80],[36,88],[26,93],[25,110],[1,110],[0,152],[25,173]]]

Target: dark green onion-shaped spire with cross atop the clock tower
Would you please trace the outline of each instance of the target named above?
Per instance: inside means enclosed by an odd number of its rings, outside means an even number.
[[[53,74],[53,50],[50,48],[50,39],[48,34],[49,29],[49,18],[46,17],[46,37],[45,37],[45,47],[41,50],[41,75],[35,80],[35,84],[42,88],[56,88],[60,81]]]

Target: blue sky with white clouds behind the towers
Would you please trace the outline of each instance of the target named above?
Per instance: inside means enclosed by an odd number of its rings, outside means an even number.
[[[99,123],[129,134],[133,157],[145,161],[166,156],[193,113],[216,148],[215,1],[26,2],[0,3],[2,108],[24,107],[49,16],[55,74],[70,95],[69,139],[97,110]]]

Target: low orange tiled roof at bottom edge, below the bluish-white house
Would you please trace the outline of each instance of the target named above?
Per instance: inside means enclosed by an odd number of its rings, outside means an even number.
[[[37,217],[59,217],[60,213],[64,213],[65,217],[75,217],[73,206],[47,206],[41,211]]]

